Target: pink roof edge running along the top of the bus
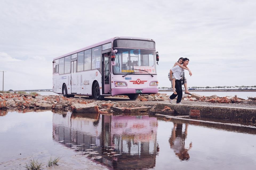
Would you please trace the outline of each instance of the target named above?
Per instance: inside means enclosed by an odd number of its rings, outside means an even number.
[[[93,45],[90,45],[90,46],[87,46],[87,47],[83,47],[83,48],[81,48],[81,49],[72,51],[72,52],[70,52],[70,53],[61,55],[61,56],[59,56],[59,57],[54,58],[53,60],[57,60],[57,59],[59,59],[59,58],[62,58],[62,57],[65,57],[65,56],[68,56],[68,55],[71,55],[71,54],[75,54],[75,53],[78,53],[78,52],[83,51],[83,50],[87,50],[87,49],[90,49],[90,48],[93,48],[93,47],[97,47],[97,46],[99,46],[99,45],[106,44],[106,43],[108,43],[108,42],[113,42],[115,39],[134,39],[134,40],[148,40],[148,41],[154,41],[153,39],[150,39],[150,38],[139,38],[139,37],[113,37],[113,38],[110,38],[110,39],[108,39],[108,40],[101,41],[101,42],[98,42],[98,43],[96,43],[96,44],[93,44]]]

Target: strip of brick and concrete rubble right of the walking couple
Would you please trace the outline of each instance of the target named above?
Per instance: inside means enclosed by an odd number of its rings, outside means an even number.
[[[253,104],[251,99],[242,99],[238,98],[236,95],[226,96],[226,97],[218,97],[217,95],[201,96],[199,94],[192,93],[191,95],[184,94],[183,101],[196,101],[196,102],[210,102],[210,103],[243,103],[243,104]],[[253,101],[254,102],[254,101]]]

